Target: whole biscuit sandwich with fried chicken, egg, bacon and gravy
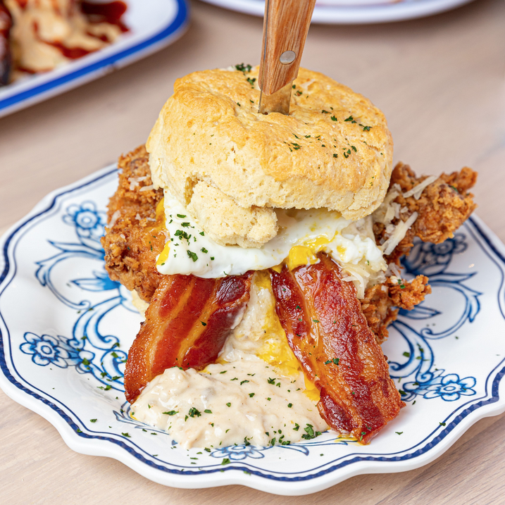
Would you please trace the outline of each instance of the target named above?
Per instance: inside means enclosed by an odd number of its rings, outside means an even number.
[[[145,314],[131,415],[182,447],[368,443],[404,402],[380,343],[430,293],[401,278],[414,237],[475,208],[469,168],[392,170],[368,99],[301,68],[289,116],[258,113],[258,68],[175,82],[146,146],[118,163],[106,269]]]

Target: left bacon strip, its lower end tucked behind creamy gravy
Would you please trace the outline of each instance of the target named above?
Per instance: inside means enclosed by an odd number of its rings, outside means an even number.
[[[163,276],[133,342],[125,369],[132,403],[167,368],[201,370],[214,363],[249,301],[252,273],[220,279]]]

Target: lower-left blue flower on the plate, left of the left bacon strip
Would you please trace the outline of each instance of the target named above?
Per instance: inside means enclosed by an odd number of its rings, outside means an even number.
[[[25,354],[31,354],[32,361],[36,365],[47,366],[51,363],[60,368],[67,368],[69,364],[74,364],[75,361],[78,361],[78,353],[61,339],[51,337],[51,335],[42,335],[39,337],[35,333],[26,332],[26,342],[20,345],[20,349]]]

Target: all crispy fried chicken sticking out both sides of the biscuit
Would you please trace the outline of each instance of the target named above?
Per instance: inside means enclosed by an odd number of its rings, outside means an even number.
[[[144,301],[150,301],[163,275],[156,269],[156,256],[163,250],[166,236],[163,230],[164,215],[156,221],[156,205],[163,198],[161,189],[151,188],[151,170],[144,146],[121,156],[118,162],[118,190],[108,205],[108,222],[101,244],[105,249],[106,270],[111,279],[118,280],[127,289],[136,290]],[[416,223],[407,232],[388,262],[396,262],[408,255],[413,238],[426,242],[443,242],[451,237],[475,208],[468,189],[475,184],[476,173],[470,168],[449,175],[442,174],[425,188],[420,199],[397,197],[401,206],[409,208],[404,220],[418,212]],[[399,184],[403,192],[422,182],[409,166],[399,163],[393,170],[391,185]],[[147,189],[145,189],[147,188]],[[396,224],[393,221],[394,224]],[[374,225],[375,239],[383,238],[384,227]],[[420,304],[431,288],[425,275],[399,284],[395,278],[366,289],[360,300],[363,314],[379,343],[387,339],[387,326],[397,319],[399,308],[411,310]]]

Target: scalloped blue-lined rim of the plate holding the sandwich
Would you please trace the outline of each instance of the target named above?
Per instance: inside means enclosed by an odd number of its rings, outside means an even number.
[[[43,216],[45,213],[51,211],[51,209],[58,203],[59,197],[64,197],[66,194],[75,192],[83,187],[93,185],[94,183],[100,183],[102,180],[105,182],[107,177],[110,177],[115,173],[116,164],[114,163],[102,170],[82,178],[81,180],[78,180],[77,182],[55,189],[39,201],[30,213],[20,219],[18,223],[11,226],[4,235],[0,237],[0,266],[2,267],[0,273],[0,297],[12,278],[15,276],[15,256],[12,251],[11,256],[13,257],[11,261],[11,258],[9,258],[9,245],[20,235],[20,232],[24,232],[27,229],[27,226],[29,226],[30,223],[34,223],[39,216]],[[487,247],[491,249],[492,253],[497,256],[497,258],[505,266],[504,244],[501,243],[499,238],[494,235],[489,227],[487,227],[487,225],[485,225],[478,216],[471,216],[470,223],[472,223],[475,228],[475,232],[478,233],[479,237],[487,244]],[[36,225],[36,221],[34,225]],[[485,252],[487,253],[487,251]],[[504,288],[504,272],[505,270],[502,270],[499,292],[501,292]],[[11,278],[8,279],[8,277]],[[7,283],[5,282],[6,279],[8,279]],[[412,470],[414,468],[420,468],[420,466],[424,466],[425,464],[430,463],[430,461],[433,461],[441,456],[444,451],[449,449],[449,447],[451,447],[451,445],[454,444],[454,442],[456,442],[456,440],[459,439],[459,437],[461,437],[461,435],[463,435],[463,433],[478,420],[488,416],[494,416],[505,411],[505,398],[501,398],[499,395],[501,379],[505,375],[504,358],[491,370],[490,373],[487,374],[487,381],[490,380],[490,377],[493,376],[493,378],[492,384],[490,384],[489,388],[490,392],[487,392],[484,398],[481,398],[473,404],[469,404],[468,402],[467,404],[460,406],[459,409],[461,409],[461,411],[459,411],[456,416],[454,416],[453,411],[449,416],[451,418],[454,417],[454,419],[451,420],[451,423],[447,425],[446,429],[442,430],[437,437],[430,438],[430,442],[428,444],[426,444],[425,441],[420,442],[425,445],[421,449],[418,449],[418,451],[414,451],[412,454],[409,453],[409,457],[404,457],[407,456],[407,454],[405,454],[404,456],[399,456],[397,459],[393,459],[393,461],[388,458],[386,461],[388,461],[389,465],[386,472],[385,468],[379,466],[383,461],[377,461],[377,458],[366,455],[354,456],[352,454],[347,455],[347,459],[343,462],[341,461],[336,464],[330,463],[329,466],[325,466],[325,468],[319,473],[314,469],[306,470],[306,473],[308,474],[310,472],[310,475],[292,478],[287,478],[285,476],[280,477],[278,475],[268,475],[265,473],[265,471],[268,472],[268,470],[258,471],[251,469],[252,475],[244,475],[244,466],[234,466],[233,464],[226,466],[224,470],[222,468],[216,468],[213,470],[203,470],[201,472],[185,472],[184,470],[174,470],[173,468],[170,469],[161,465],[156,465],[156,463],[144,458],[142,454],[135,451],[132,446],[138,447],[137,444],[134,444],[133,442],[126,444],[124,442],[124,437],[116,435],[116,439],[111,439],[111,435],[113,434],[110,433],[107,434],[107,437],[96,437],[95,435],[89,435],[86,432],[78,433],[77,429],[79,426],[65,411],[63,411],[63,409],[61,409],[60,406],[23,385],[22,381],[24,379],[20,374],[17,374],[20,379],[18,380],[18,378],[11,373],[5,355],[5,348],[8,347],[8,345],[4,344],[4,337],[2,335],[4,328],[8,334],[8,327],[5,323],[4,316],[0,312],[0,336],[2,337],[0,339],[0,387],[4,390],[4,392],[6,392],[8,397],[11,397],[11,399],[28,409],[35,411],[54,425],[70,449],[82,454],[111,457],[129,466],[132,470],[135,470],[144,477],[149,478],[149,480],[172,487],[195,489],[238,484],[281,495],[301,495],[318,492],[331,487],[338,482],[347,480],[347,478],[351,478],[354,475],[361,475],[363,473],[397,473]],[[63,401],[58,399],[55,400],[59,404],[64,405]],[[70,410],[68,407],[67,409]],[[105,440],[113,442],[113,444],[104,447],[102,442]],[[400,452],[404,454],[410,449],[404,449]],[[420,454],[415,455],[419,451]],[[351,459],[351,456],[354,457]],[[339,468],[344,468],[344,471],[338,472]],[[223,471],[223,473],[221,473],[221,471]],[[336,471],[337,473],[335,473]]]

